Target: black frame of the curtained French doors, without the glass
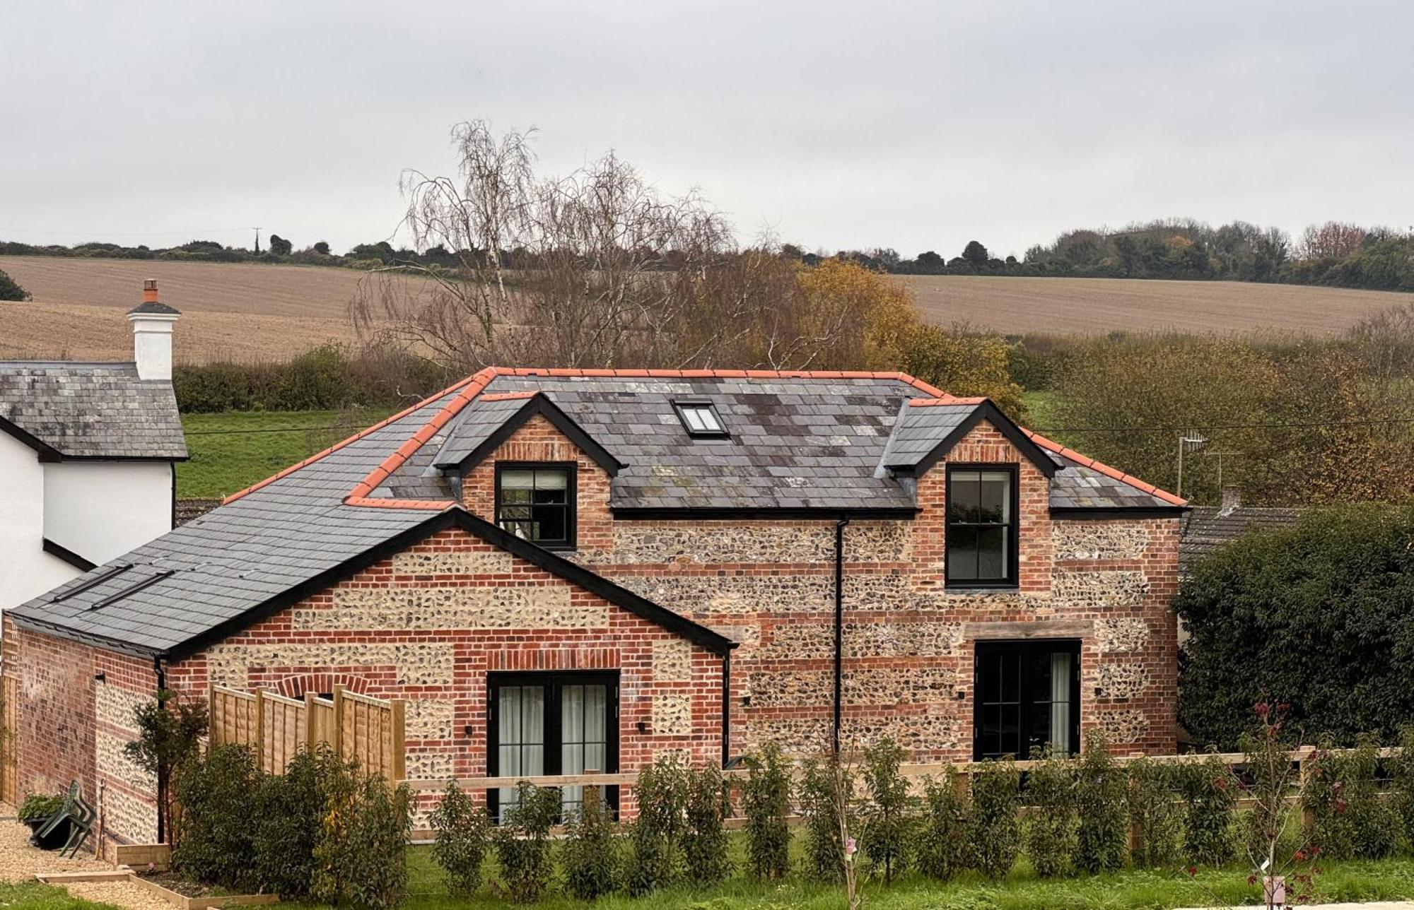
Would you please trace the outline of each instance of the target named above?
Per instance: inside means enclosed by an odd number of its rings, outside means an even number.
[[[496,702],[502,685],[544,687],[544,774],[559,774],[563,763],[561,746],[564,729],[561,725],[561,688],[566,685],[605,685],[608,698],[605,708],[605,763],[601,774],[617,774],[619,769],[619,671],[618,670],[567,670],[567,671],[520,671],[495,670],[486,674],[486,777],[498,777],[501,772],[501,725],[496,716]],[[617,817],[619,788],[604,787],[604,801]],[[486,790],[486,810],[492,818],[501,814],[501,793]]]

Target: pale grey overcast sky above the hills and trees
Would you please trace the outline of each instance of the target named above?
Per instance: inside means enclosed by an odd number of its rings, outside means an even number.
[[[399,6],[7,3],[0,239],[342,252],[475,117],[807,249],[1414,225],[1408,0]]]

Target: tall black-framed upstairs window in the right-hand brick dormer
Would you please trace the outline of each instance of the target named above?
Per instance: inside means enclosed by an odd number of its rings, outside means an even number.
[[[945,577],[960,588],[1017,584],[1017,466],[947,466]]]

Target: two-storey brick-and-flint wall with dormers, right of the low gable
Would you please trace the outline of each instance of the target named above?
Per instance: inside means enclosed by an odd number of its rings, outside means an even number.
[[[580,543],[570,558],[728,634],[734,750],[830,743],[834,520],[615,520],[608,475],[547,421],[532,421],[465,479],[493,520],[495,462],[578,465]],[[945,586],[946,463],[1017,465],[1018,586]],[[844,735],[889,732],[918,760],[971,757],[978,640],[1079,639],[1085,729],[1120,750],[1172,752],[1176,519],[1053,519],[1048,478],[981,424],[918,479],[912,521],[851,521],[844,560]]]

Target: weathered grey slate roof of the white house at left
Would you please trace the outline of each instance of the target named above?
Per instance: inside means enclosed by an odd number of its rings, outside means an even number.
[[[133,363],[0,360],[0,422],[49,458],[187,458],[171,383]]]

